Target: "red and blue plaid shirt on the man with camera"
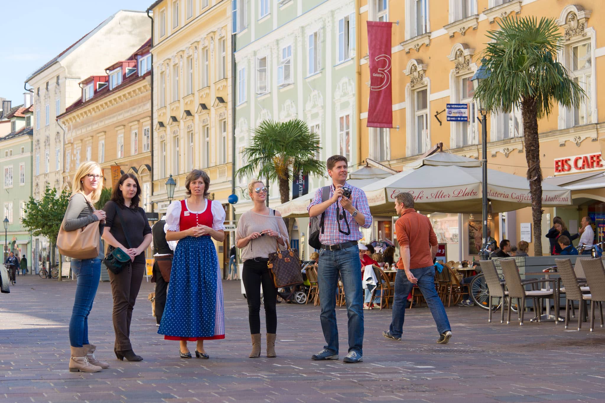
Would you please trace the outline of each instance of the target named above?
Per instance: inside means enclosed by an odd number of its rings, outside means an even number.
[[[353,207],[358,210],[358,214],[364,215],[364,228],[370,228],[372,224],[372,215],[370,214],[370,206],[368,206],[368,198],[365,197],[365,192],[346,182],[343,187],[351,189],[351,203],[353,204]],[[309,206],[307,206],[307,211],[313,206],[322,203],[321,192],[321,188],[317,189],[315,197]],[[328,198],[332,198],[333,194],[334,185],[330,185],[330,195]],[[339,221],[336,220],[337,208],[341,215],[341,220]],[[343,234],[342,232],[348,232],[348,234]],[[336,201],[336,203],[333,203],[329,208],[325,209],[324,231],[319,232],[319,242],[324,245],[334,245],[348,241],[358,241],[363,237],[361,231],[359,231],[359,224],[355,221],[355,218],[350,212],[342,208],[340,199],[339,201]]]

